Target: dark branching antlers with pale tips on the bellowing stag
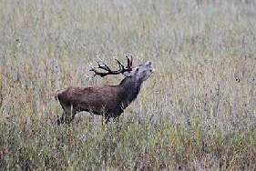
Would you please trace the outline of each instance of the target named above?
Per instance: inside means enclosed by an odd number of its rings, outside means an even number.
[[[99,57],[98,59],[100,60],[100,62],[97,62],[97,67],[94,67],[93,65],[89,64],[90,66],[90,71],[93,71],[94,72],[94,75],[92,76],[92,78],[94,78],[96,75],[99,75],[101,77],[103,76],[106,76],[106,75],[118,75],[118,74],[123,74],[124,72],[126,71],[131,71],[132,68],[131,68],[131,65],[132,65],[132,55],[130,55],[130,58],[128,58],[128,55],[126,55],[127,59],[128,59],[128,65],[127,67],[125,68],[124,65],[122,65],[122,63],[120,63],[120,61],[118,61],[117,58],[115,58],[115,60],[118,62],[118,67],[119,69],[116,70],[116,71],[112,71],[108,65],[106,65]],[[101,63],[101,64],[100,64]],[[99,72],[97,71],[97,68],[98,69],[103,69],[107,72],[105,73],[102,73],[102,72]]]

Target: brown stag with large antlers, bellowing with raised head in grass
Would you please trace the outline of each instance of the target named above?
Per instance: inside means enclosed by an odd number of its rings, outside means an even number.
[[[111,70],[108,65],[101,61],[97,67],[90,65],[90,71],[94,76],[123,74],[126,77],[119,85],[102,86],[70,86],[56,92],[56,99],[59,101],[64,112],[58,119],[58,124],[70,123],[77,112],[87,111],[95,115],[105,116],[105,123],[109,119],[120,116],[124,109],[138,96],[141,84],[148,79],[155,71],[152,63],[148,61],[144,65],[132,66],[132,56],[127,57],[128,65],[124,67],[118,59],[118,70]],[[102,69],[104,72],[99,72]]]

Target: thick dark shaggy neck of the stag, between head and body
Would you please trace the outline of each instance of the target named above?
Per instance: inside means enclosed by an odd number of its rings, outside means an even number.
[[[136,80],[133,77],[126,77],[118,85],[123,108],[126,108],[138,96],[142,82],[142,80]]]

